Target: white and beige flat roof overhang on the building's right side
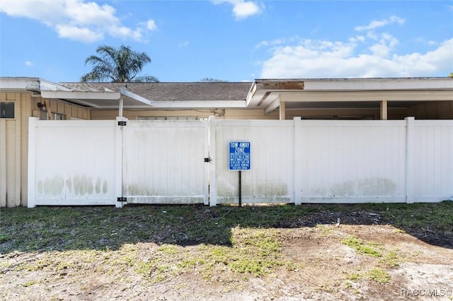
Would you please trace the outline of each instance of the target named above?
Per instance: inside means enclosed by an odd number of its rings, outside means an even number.
[[[453,101],[453,78],[337,78],[256,80],[246,98],[248,107],[262,107],[266,114],[287,102],[286,109],[369,107],[366,102],[386,100],[396,107],[421,102]],[[359,105],[360,107],[360,105]]]

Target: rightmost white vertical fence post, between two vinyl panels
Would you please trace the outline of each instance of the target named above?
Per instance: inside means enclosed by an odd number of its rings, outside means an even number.
[[[413,199],[413,135],[414,117],[406,117],[406,203],[414,203]]]

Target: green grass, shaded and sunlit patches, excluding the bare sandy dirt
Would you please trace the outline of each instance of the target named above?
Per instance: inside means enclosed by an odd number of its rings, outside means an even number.
[[[1,208],[0,254],[26,252],[33,260],[16,271],[80,271],[102,265],[104,273],[127,268],[151,282],[163,282],[180,273],[233,273],[248,278],[278,268],[303,271],[304,266],[282,252],[282,228],[311,225],[321,237],[335,231],[336,216],[365,211],[377,213],[379,223],[395,225],[411,234],[414,228],[451,235],[453,202],[421,204],[303,205],[303,206],[125,206]],[[335,213],[330,225],[301,224],[318,213]],[[328,215],[329,216],[329,215]],[[342,220],[342,222],[344,219]],[[140,253],[139,243],[152,243],[152,252]],[[367,273],[351,273],[350,281],[367,278],[388,281],[384,267],[402,261],[396,250],[350,236],[343,244],[358,253],[379,258]],[[196,248],[190,248],[197,246]],[[52,254],[52,256],[43,256]],[[42,256],[41,256],[42,255]],[[13,256],[13,255],[11,255]],[[25,286],[33,283],[25,283]]]

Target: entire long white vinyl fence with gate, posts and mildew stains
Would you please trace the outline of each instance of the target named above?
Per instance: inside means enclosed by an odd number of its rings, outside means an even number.
[[[122,121],[31,118],[28,206],[453,196],[453,120]],[[230,141],[250,142],[241,191]]]

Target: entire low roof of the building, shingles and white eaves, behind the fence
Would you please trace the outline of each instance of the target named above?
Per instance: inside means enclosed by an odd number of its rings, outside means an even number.
[[[43,98],[99,109],[404,108],[453,101],[453,78],[280,78],[252,82],[51,83],[0,78],[0,90],[30,90]],[[387,104],[386,104],[387,105]],[[283,108],[283,109],[282,109]]]

